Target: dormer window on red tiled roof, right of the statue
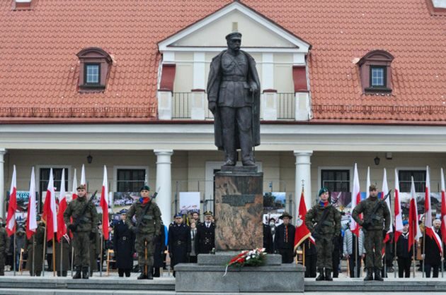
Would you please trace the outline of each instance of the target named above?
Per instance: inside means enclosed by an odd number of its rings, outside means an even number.
[[[391,92],[391,61],[394,56],[383,50],[367,53],[360,61],[362,91],[365,93]]]

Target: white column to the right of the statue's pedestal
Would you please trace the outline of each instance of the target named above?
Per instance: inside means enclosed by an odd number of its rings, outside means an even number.
[[[302,180],[304,181],[305,205],[307,210],[311,207],[311,162],[312,150],[295,150],[296,157],[296,183],[295,183],[295,207],[299,205],[300,194],[302,193]]]

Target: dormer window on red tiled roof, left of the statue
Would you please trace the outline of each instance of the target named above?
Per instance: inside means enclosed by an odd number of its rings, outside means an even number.
[[[110,54],[98,47],[89,47],[77,54],[80,61],[79,89],[103,90],[112,66]]]

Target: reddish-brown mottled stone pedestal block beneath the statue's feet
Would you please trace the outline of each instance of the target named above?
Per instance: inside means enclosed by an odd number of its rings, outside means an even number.
[[[263,246],[263,173],[257,167],[222,167],[215,174],[215,248]]]

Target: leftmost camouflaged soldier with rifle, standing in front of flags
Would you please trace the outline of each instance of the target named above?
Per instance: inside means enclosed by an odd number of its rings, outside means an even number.
[[[96,206],[92,202],[88,202],[85,186],[81,185],[77,188],[78,198],[72,200],[67,210],[64,212],[64,222],[67,228],[73,233],[74,246],[74,269],[76,274],[73,279],[82,278],[88,279],[90,266],[90,239],[96,237],[98,228],[98,212]],[[86,207],[85,214],[80,216],[84,207]],[[73,223],[70,222],[70,217]],[[77,224],[77,227],[75,226]]]

